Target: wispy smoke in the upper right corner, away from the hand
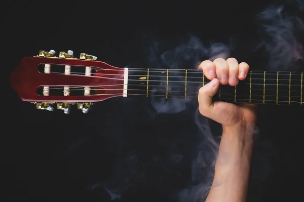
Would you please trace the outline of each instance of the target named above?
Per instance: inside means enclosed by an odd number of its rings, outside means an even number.
[[[297,7],[298,11],[303,9],[301,1],[294,1],[293,4],[271,5],[256,16],[262,40],[257,48],[265,50],[268,69],[298,70],[301,68],[297,62],[303,59],[301,38],[304,24],[303,20],[297,16],[298,12],[294,10],[288,12],[291,6]]]

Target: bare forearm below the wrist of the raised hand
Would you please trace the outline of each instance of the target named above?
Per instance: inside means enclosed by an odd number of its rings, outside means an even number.
[[[246,201],[253,128],[223,128],[212,187],[206,202]]]

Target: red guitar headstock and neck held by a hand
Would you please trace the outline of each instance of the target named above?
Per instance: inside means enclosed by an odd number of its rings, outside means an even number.
[[[198,69],[120,68],[72,51],[40,51],[24,57],[11,74],[22,101],[65,114],[72,105],[87,113],[93,103],[113,97],[197,100],[208,80]],[[303,72],[250,71],[236,87],[221,85],[214,100],[231,103],[302,105]]]

